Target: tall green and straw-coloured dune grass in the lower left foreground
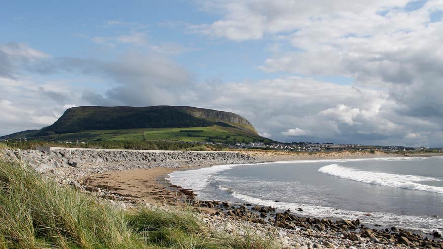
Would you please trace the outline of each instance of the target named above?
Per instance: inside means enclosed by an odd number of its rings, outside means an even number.
[[[274,248],[269,238],[215,232],[198,214],[121,210],[0,159],[0,248]]]

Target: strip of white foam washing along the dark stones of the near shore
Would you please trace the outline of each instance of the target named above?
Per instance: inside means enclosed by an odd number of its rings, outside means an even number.
[[[424,232],[430,232],[433,229],[441,231],[441,224],[443,224],[443,219],[439,217],[406,216],[406,215],[395,215],[395,214],[382,213],[382,212],[371,212],[370,216],[368,216],[368,213],[364,212],[341,210],[322,205],[309,205],[301,203],[287,203],[287,202],[275,202],[272,200],[263,200],[249,195],[240,194],[237,193],[236,191],[232,191],[231,195],[244,202],[249,202],[264,206],[273,206],[274,208],[281,211],[289,209],[292,212],[297,213],[299,215],[311,216],[311,217],[324,217],[330,219],[346,219],[346,220],[360,219],[363,223],[367,224],[380,224],[383,226],[400,226],[403,228],[420,230]],[[303,211],[298,212],[297,209],[299,208],[301,208]]]

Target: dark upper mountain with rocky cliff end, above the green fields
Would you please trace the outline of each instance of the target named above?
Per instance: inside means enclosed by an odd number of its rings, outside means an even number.
[[[41,129],[34,136],[88,130],[186,128],[213,125],[235,127],[245,133],[257,135],[246,118],[231,112],[189,106],[81,106],[67,109],[53,125]]]

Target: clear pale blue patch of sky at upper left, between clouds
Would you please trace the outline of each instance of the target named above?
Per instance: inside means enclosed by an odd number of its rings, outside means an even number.
[[[112,7],[112,8],[107,8]],[[270,41],[251,40],[232,43],[183,32],[181,23],[213,22],[217,15],[208,14],[185,1],[100,1],[52,2],[51,4],[7,3],[0,21],[8,23],[2,43],[11,40],[32,43],[32,47],[53,56],[113,58],[124,50],[147,51],[133,44],[106,48],[91,41],[93,37],[111,37],[141,33],[148,43],[173,44],[186,50],[171,57],[186,65],[199,79],[223,80],[275,77],[255,70],[267,58]],[[86,38],[89,37],[90,39]]]

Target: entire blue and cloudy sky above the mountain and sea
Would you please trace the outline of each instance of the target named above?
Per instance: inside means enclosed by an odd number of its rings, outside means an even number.
[[[443,146],[443,0],[4,1],[0,135],[187,105],[285,142]]]

